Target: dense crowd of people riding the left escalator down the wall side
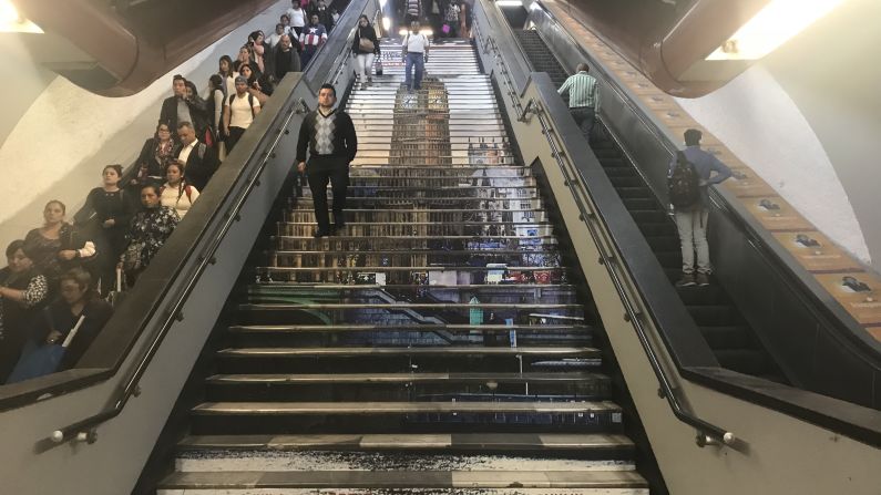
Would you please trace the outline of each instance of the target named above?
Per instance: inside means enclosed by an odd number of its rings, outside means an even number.
[[[150,266],[277,82],[308,64],[338,19],[325,0],[294,0],[269,37],[255,31],[235,60],[221,56],[204,97],[174,75],[131,177],[121,165],[103,167],[73,221],[53,199],[42,226],[10,243],[0,270],[0,383],[76,364],[111,318],[109,301]],[[51,370],[34,363],[50,347],[63,354]]]

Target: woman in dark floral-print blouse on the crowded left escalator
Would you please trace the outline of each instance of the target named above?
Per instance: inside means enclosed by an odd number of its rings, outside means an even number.
[[[144,209],[132,218],[126,236],[129,245],[117,265],[125,271],[129,285],[133,285],[137,276],[146,269],[181,221],[174,209],[162,206],[158,187],[154,185],[141,188],[141,204]]]

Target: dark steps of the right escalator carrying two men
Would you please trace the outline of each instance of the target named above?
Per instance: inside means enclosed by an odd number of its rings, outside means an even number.
[[[555,84],[562,84],[566,72],[539,33],[534,30],[514,32],[535,70],[549,72]],[[594,128],[591,148],[652,251],[667,271],[670,282],[674,282],[682,276],[682,255],[673,218],[602,123]],[[740,373],[785,381],[777,364],[764,350],[755,331],[723,287],[714,283],[709,287],[677,287],[676,290],[719,364]]]

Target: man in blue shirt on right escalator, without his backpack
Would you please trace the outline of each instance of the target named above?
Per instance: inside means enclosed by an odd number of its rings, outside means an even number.
[[[674,212],[683,250],[683,278],[676,283],[679,287],[709,285],[713,266],[709,264],[709,245],[707,244],[707,220],[709,219],[707,187],[711,184],[719,184],[731,176],[731,169],[728,166],[700,149],[703,136],[704,134],[696,128],[686,131],[686,148],[682,152],[700,177],[700,200],[694,206],[676,208]],[[677,158],[674,157],[670,162],[669,175],[673,175],[676,163]],[[716,175],[713,175],[714,172]],[[710,175],[713,176],[710,177]],[[695,267],[695,251],[697,251],[697,267]],[[697,269],[695,270],[695,268]]]

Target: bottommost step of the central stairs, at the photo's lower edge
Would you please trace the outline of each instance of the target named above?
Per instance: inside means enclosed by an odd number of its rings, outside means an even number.
[[[309,492],[300,491],[307,488]],[[345,489],[347,494],[370,494],[377,493],[377,489],[431,489],[431,493],[463,495],[561,494],[561,489],[578,489],[580,494],[597,495],[648,494],[645,478],[632,471],[231,471],[171,474],[160,484],[158,495],[173,495],[174,492],[164,491],[176,489],[184,489],[187,494],[195,494],[193,491],[196,489],[224,489],[231,495],[238,491],[254,494],[256,489],[270,489],[260,493],[287,495],[316,493],[315,488]]]

